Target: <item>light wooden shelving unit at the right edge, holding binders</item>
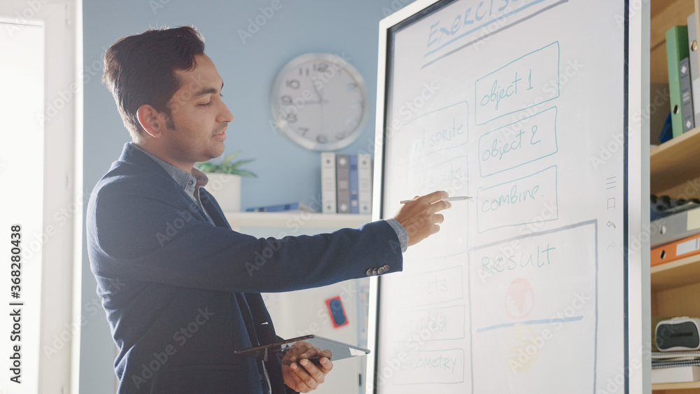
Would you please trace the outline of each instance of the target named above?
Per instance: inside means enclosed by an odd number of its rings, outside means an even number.
[[[698,0],[651,2],[652,83],[668,83],[666,30],[687,24],[691,13],[696,14],[697,24],[698,10]],[[700,197],[700,127],[652,148],[650,153],[652,194]],[[651,297],[652,316],[700,316],[700,255],[651,267]],[[652,391],[654,394],[700,394],[700,382],[652,384]]]

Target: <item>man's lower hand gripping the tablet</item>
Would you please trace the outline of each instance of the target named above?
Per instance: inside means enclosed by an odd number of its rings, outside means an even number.
[[[321,351],[307,342],[295,343],[282,359],[284,384],[299,393],[316,390],[325,381],[325,375],[333,369],[330,357],[328,350]],[[312,363],[311,358],[318,360],[320,365]]]

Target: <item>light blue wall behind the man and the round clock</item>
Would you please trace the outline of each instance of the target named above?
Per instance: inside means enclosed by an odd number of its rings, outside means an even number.
[[[149,27],[193,24],[204,35],[206,52],[225,80],[224,101],[234,114],[226,153],[242,150],[255,158],[248,169],[258,178],[244,178],[241,206],[283,202],[311,203],[320,196],[320,153],[311,152],[274,134],[269,127],[269,91],[277,71],[305,52],[344,54],[367,83],[372,108],[362,136],[341,153],[367,151],[374,141],[379,20],[412,0],[281,0],[260,29],[241,42],[238,30],[248,28],[260,7],[272,0],[85,0],[84,25],[84,189],[90,192],[118,158],[129,134],[111,94],[100,83],[104,50],[118,38]],[[85,244],[85,241],[83,241]],[[113,393],[115,347],[102,309],[94,309],[97,286],[83,248],[83,316],[80,393]]]

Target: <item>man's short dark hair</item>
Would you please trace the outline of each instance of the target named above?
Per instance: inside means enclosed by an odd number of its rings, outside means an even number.
[[[204,37],[189,26],[123,37],[105,52],[102,83],[112,92],[134,140],[143,131],[137,110],[144,104],[166,113],[172,125],[168,101],[181,86],[175,71],[192,69],[195,55],[203,53]]]

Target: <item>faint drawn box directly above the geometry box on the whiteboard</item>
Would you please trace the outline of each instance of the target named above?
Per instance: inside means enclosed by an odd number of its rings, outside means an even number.
[[[464,339],[465,309],[464,305],[455,305],[404,311],[395,322],[398,329],[393,335],[393,341],[406,342],[416,335],[425,342]]]

